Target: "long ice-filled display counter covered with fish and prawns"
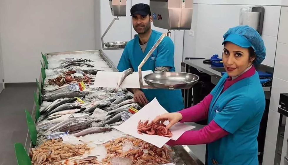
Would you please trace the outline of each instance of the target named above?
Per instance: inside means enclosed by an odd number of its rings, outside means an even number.
[[[131,108],[142,106],[125,88],[93,87],[98,71],[118,71],[102,50],[46,53],[45,58],[36,93],[41,96],[37,140],[33,145],[28,132],[25,143],[33,165],[203,164],[187,146],[158,148],[115,129]],[[34,104],[32,118],[36,109]]]

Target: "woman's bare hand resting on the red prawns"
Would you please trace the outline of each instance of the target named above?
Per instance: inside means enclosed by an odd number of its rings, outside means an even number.
[[[174,124],[178,123],[182,119],[182,114],[179,112],[175,113],[164,113],[163,115],[157,116],[153,123],[161,123],[163,124],[165,121],[169,121],[170,123],[166,126],[167,129],[170,129]]]

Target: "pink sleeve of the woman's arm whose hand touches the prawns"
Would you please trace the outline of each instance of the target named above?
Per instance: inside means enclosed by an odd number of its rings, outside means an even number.
[[[181,111],[182,120],[179,122],[196,122],[204,120],[208,117],[208,110],[213,96],[211,94],[207,95],[200,103]]]

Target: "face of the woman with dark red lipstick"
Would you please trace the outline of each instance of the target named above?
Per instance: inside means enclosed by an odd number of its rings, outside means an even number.
[[[223,65],[229,76],[238,76],[252,65],[253,58],[249,58],[248,48],[239,47],[231,42],[224,44]]]

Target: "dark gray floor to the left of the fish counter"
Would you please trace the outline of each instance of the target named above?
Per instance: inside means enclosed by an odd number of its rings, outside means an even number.
[[[27,123],[24,109],[32,112],[34,84],[6,86],[0,94],[0,165],[17,164],[14,143],[25,145]]]

